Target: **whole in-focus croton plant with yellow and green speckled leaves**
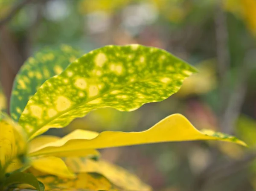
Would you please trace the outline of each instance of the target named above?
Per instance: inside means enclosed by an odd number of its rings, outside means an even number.
[[[64,137],[41,135],[92,110],[133,111],[176,93],[196,69],[155,47],[105,46],[87,54],[67,45],[35,53],[13,85],[10,114],[0,114],[0,190],[140,190],[151,187],[100,158],[97,149],[157,142],[221,140],[172,114],[142,132],[77,129]]]

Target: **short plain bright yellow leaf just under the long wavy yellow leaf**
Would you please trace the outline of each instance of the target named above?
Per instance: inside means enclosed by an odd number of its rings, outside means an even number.
[[[48,174],[53,174],[58,177],[64,178],[75,178],[76,175],[69,171],[65,162],[54,156],[42,157],[34,159],[32,161],[32,166],[42,172]]]

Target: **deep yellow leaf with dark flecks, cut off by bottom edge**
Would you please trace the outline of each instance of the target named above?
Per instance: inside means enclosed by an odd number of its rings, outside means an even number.
[[[44,174],[33,168],[30,168],[29,171],[44,183],[46,191],[96,191],[117,188],[108,179],[98,173],[77,173],[76,179],[63,179]]]

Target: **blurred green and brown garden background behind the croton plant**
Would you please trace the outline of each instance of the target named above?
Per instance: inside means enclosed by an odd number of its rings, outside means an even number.
[[[256,190],[256,0],[0,0],[0,107],[26,58],[44,46],[89,52],[107,44],[166,49],[198,68],[178,93],[134,112],[100,109],[75,128],[145,130],[172,113],[225,142],[172,142],[101,150],[155,191]],[[4,98],[4,96],[6,98]]]

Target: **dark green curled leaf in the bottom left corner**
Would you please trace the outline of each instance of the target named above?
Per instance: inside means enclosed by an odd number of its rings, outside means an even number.
[[[38,182],[38,179],[33,174],[23,172],[11,174],[9,177],[6,178],[4,186],[7,187],[9,185],[17,183],[29,184],[36,188],[38,191],[44,191],[44,185]]]

